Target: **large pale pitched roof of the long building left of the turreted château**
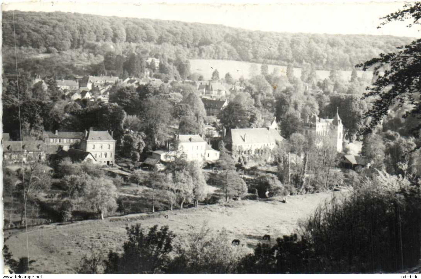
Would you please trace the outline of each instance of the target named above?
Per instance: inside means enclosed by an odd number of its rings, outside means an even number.
[[[275,143],[284,139],[277,130],[268,128],[231,129],[230,133],[234,145]]]

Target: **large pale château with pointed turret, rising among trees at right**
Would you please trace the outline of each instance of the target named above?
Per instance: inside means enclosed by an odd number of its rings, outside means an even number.
[[[322,119],[313,114],[307,116],[303,123],[303,132],[305,135],[312,135],[316,138],[316,143],[321,144],[322,138],[327,138],[328,142],[336,148],[337,152],[342,152],[342,143],[344,141],[344,125],[336,111],[333,119]]]

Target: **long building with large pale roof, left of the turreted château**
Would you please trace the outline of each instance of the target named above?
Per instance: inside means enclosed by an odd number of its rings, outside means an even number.
[[[274,149],[284,138],[279,134],[276,118],[267,128],[231,129],[226,134],[226,142],[234,155],[260,154],[263,149]]]

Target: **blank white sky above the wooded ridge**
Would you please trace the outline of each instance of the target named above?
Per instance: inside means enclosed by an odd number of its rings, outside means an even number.
[[[115,0],[116,1],[116,0]],[[319,0],[318,2],[320,2]],[[420,27],[406,27],[405,23],[396,22],[381,29],[376,27],[379,18],[402,8],[404,2],[369,2],[330,0],[317,3],[317,0],[301,1],[304,3],[288,3],[287,1],[253,1],[244,0],[214,0],[213,4],[195,2],[189,4],[183,0],[166,1],[136,1],[131,3],[112,3],[112,1],[31,1],[3,4],[3,11],[64,11],[75,13],[92,13],[104,16],[137,17],[148,19],[167,19],[209,24],[223,24],[231,27],[241,27],[251,30],[275,32],[303,32],[328,34],[370,34],[419,37]],[[161,1],[162,2],[162,1]],[[180,3],[181,2],[181,3]],[[218,2],[218,3],[216,3]],[[271,3],[272,2],[272,3]],[[345,3],[344,3],[345,2]],[[249,4],[245,4],[249,3]]]

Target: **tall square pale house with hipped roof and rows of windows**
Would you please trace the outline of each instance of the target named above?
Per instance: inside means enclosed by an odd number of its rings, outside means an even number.
[[[108,131],[85,131],[85,136],[80,141],[80,150],[93,155],[101,165],[114,165],[115,140]]]

